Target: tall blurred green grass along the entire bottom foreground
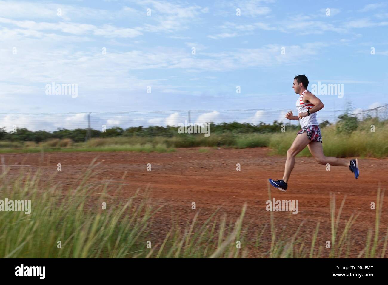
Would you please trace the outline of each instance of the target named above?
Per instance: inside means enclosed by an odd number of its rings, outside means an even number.
[[[162,206],[151,206],[147,192],[136,192],[127,200],[120,195],[108,195],[107,183],[89,182],[99,174],[98,164],[92,162],[80,175],[77,183],[64,191],[49,179],[39,183],[39,173],[21,173],[9,176],[7,169],[0,176],[0,197],[8,200],[31,200],[31,214],[21,211],[4,211],[0,215],[0,258],[244,258],[248,254],[264,258],[319,258],[324,246],[315,241],[320,234],[319,223],[312,238],[305,238],[303,222],[293,236],[284,235],[270,212],[270,219],[263,221],[262,229],[251,242],[248,226],[243,226],[246,205],[235,222],[227,217],[217,217],[217,211],[205,222],[199,222],[199,213],[182,225],[171,221],[171,229],[163,242],[149,241],[149,229],[154,215]],[[9,178],[12,177],[12,178]],[[117,189],[119,193],[121,189]],[[370,228],[364,249],[358,257],[385,257],[388,237],[379,233],[380,215],[384,192],[380,189],[376,199],[375,228]],[[271,192],[268,186],[268,199]],[[106,202],[106,209],[102,203]],[[330,194],[331,250],[328,257],[348,257],[353,252],[350,230],[357,215],[352,215],[340,227],[342,201],[339,209],[334,194]],[[270,242],[262,239],[270,231]],[[167,230],[166,230],[167,231]],[[388,234],[388,231],[387,231]],[[381,238],[384,235],[385,238]],[[242,246],[237,248],[236,242]],[[147,244],[151,242],[151,247]],[[377,250],[382,248],[382,250]],[[327,253],[326,253],[327,254]]]

